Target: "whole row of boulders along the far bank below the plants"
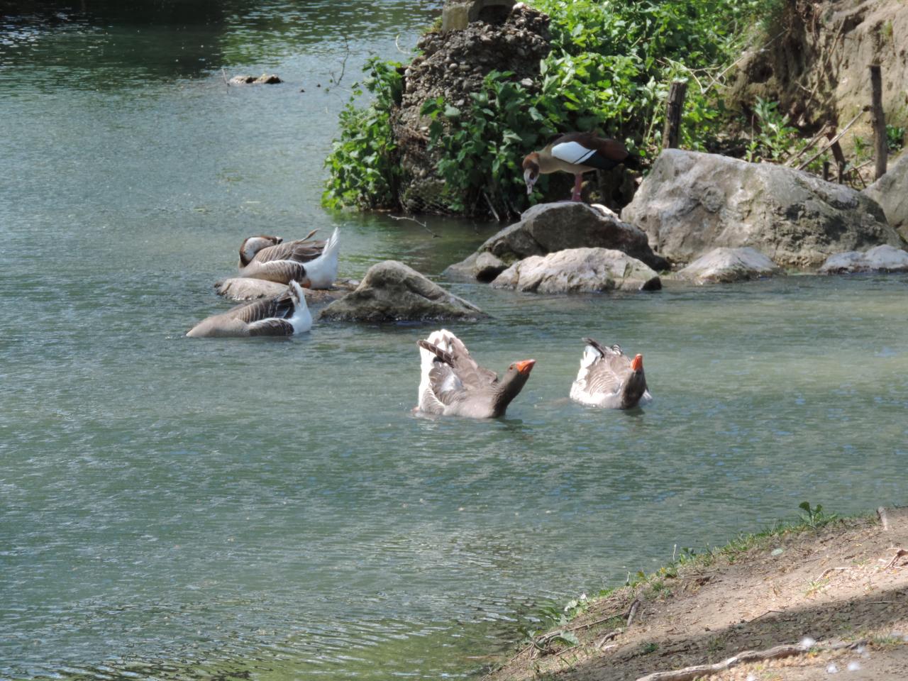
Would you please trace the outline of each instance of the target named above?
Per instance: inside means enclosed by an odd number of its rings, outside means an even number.
[[[620,219],[598,205],[539,204],[445,274],[562,293],[652,291],[663,281],[745,281],[790,269],[908,271],[905,187],[908,156],[857,192],[779,165],[669,149]]]

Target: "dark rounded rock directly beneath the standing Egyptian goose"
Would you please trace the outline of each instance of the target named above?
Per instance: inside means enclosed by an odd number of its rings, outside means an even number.
[[[491,281],[514,262],[572,248],[606,248],[626,252],[654,270],[668,263],[652,251],[646,234],[621,222],[615,213],[581,202],[539,203],[520,222],[505,227],[466,260],[451,265],[452,278]]]

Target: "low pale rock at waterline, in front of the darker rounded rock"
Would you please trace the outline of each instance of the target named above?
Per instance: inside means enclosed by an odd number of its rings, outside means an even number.
[[[627,253],[607,248],[571,248],[531,255],[501,272],[492,286],[537,293],[655,291],[659,275]]]

